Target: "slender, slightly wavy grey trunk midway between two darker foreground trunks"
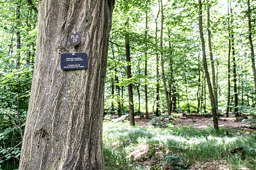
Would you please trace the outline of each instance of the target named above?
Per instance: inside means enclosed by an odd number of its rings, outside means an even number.
[[[167,91],[167,87],[166,87],[166,80],[165,80],[165,76],[164,76],[164,68],[163,68],[163,2],[162,2],[162,0],[160,0],[160,3],[161,3],[161,37],[160,37],[161,68],[162,68],[163,88],[164,88],[164,92],[166,94],[167,111],[168,111],[168,115],[171,116],[171,107],[170,107],[169,96],[168,96],[168,91]]]

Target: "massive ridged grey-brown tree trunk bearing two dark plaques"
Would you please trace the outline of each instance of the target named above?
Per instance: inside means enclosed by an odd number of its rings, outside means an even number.
[[[19,170],[103,170],[102,121],[113,0],[41,0]],[[68,42],[72,31],[79,45]],[[88,68],[61,70],[61,54]]]

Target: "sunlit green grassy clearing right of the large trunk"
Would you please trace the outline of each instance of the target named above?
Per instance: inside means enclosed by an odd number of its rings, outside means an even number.
[[[186,170],[209,161],[223,162],[222,166],[234,170],[256,168],[253,131],[224,127],[218,133],[212,127],[143,129],[109,121],[103,129],[106,170]],[[231,153],[238,147],[243,148]]]

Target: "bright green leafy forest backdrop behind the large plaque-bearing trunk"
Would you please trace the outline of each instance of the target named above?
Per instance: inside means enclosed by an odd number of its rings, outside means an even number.
[[[131,112],[146,118],[149,114],[212,113],[200,16],[217,113],[256,115],[256,1],[201,3],[202,14],[193,0],[116,0],[105,115],[130,114],[131,123]],[[0,1],[1,164],[19,161],[35,61],[37,8],[36,0]]]

